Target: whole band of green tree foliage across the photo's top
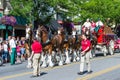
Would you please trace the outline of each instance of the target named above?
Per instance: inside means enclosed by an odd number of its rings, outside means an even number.
[[[120,22],[120,0],[10,0],[13,7],[10,14],[23,16],[29,20],[49,21],[54,14],[73,21],[110,18]]]

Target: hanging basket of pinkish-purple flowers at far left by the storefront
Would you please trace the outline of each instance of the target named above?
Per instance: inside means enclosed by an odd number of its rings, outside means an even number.
[[[1,23],[14,26],[16,24],[16,19],[13,16],[4,16],[1,18]]]

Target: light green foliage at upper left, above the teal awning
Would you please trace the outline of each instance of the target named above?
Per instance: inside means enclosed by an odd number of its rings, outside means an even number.
[[[33,8],[33,0],[10,0],[10,3],[12,15],[27,17]]]

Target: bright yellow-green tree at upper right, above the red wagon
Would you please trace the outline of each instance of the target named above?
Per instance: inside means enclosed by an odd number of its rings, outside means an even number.
[[[101,18],[105,21],[107,18],[119,23],[120,0],[89,0],[80,5],[81,18]]]

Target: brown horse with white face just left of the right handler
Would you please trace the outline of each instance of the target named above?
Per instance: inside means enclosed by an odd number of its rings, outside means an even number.
[[[72,35],[68,38],[69,43],[69,49],[70,53],[72,55],[72,61],[79,61],[79,51],[80,51],[80,45],[81,45],[81,37],[80,35],[77,35],[76,29],[73,28]]]

